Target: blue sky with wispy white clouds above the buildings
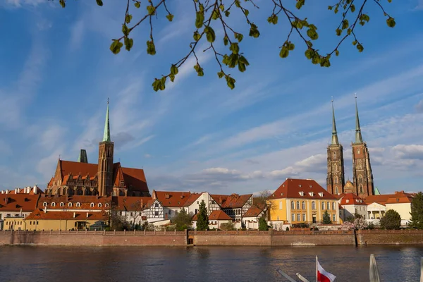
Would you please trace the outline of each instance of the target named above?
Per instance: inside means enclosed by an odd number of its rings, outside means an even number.
[[[110,100],[114,160],[143,168],[150,190],[245,194],[275,190],[286,178],[312,178],[326,188],[326,147],[331,142],[331,99],[344,147],[345,178],[352,178],[355,93],[362,136],[382,193],[420,191],[423,178],[423,1],[383,1],[393,29],[374,1],[370,21],[357,27],[364,51],[346,39],[330,68],[314,66],[305,46],[281,59],[288,25],[270,25],[270,1],[257,0],[250,16],[261,36],[247,36],[239,13],[230,23],[245,34],[245,73],[231,69],[230,90],[216,75],[211,51],[197,51],[198,77],[188,59],[175,82],[154,92],[152,82],[189,51],[195,15],[185,1],[169,1],[153,19],[157,54],[146,51],[149,26],[133,30],[134,47],[114,55],[121,36],[123,1],[0,0],[0,189],[46,188],[59,156],[76,161],[86,149],[97,163],[106,101]],[[295,1],[286,1],[289,4]],[[292,3],[290,3],[292,2]],[[313,1],[312,1],[313,2]],[[331,1],[306,1],[298,12],[317,25],[321,51],[333,49],[341,15]],[[292,6],[292,5],[291,5]],[[131,6],[133,20],[145,12]],[[214,24],[216,25],[216,23]],[[221,35],[221,27],[215,27]],[[200,47],[207,45],[200,44]],[[225,52],[221,40],[216,47]]]

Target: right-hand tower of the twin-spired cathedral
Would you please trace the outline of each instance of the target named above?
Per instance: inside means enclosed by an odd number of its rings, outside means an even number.
[[[370,165],[369,149],[363,142],[360,119],[358,118],[357,96],[355,96],[355,142],[353,148],[353,184],[354,194],[360,197],[374,195],[372,166]]]

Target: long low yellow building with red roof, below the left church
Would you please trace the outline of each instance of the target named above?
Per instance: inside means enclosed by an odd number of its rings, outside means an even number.
[[[36,209],[23,219],[21,230],[68,231],[85,230],[97,221],[108,221],[106,212],[47,212]],[[22,227],[21,227],[22,226]]]

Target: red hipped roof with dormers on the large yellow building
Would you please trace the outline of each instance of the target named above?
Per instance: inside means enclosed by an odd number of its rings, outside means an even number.
[[[301,193],[302,192],[302,193]],[[320,195],[319,195],[320,193]],[[315,199],[315,200],[337,200],[319,183],[312,179],[287,178],[269,199]]]

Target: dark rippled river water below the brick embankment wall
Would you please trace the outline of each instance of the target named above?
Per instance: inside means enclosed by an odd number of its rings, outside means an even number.
[[[422,246],[0,247],[1,281],[284,281],[280,267],[314,281],[316,261],[336,281],[419,281]]]

